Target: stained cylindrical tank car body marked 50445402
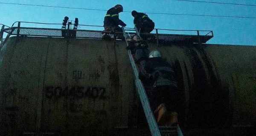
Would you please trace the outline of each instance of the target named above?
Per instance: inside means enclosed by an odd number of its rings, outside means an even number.
[[[148,45],[174,66],[185,136],[253,133],[256,46]],[[2,45],[0,135],[142,133],[150,135],[125,41],[16,34]]]

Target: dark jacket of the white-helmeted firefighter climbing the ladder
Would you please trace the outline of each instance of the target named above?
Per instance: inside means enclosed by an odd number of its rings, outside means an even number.
[[[143,71],[144,72],[140,72],[140,79],[143,80],[143,77],[147,74],[151,74],[154,80],[154,87],[170,85],[173,88],[177,88],[172,66],[165,59],[161,57],[149,58]]]

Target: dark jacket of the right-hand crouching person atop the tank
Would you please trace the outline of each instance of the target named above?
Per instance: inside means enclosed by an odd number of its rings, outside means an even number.
[[[134,25],[141,28],[143,23],[154,23],[147,14],[138,12],[136,16],[134,17]]]

